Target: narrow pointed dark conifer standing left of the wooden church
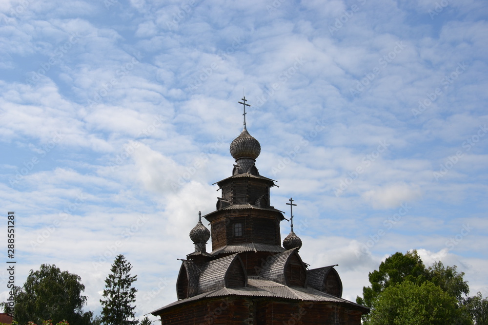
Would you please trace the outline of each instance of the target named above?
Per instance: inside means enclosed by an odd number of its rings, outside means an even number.
[[[135,325],[134,308],[137,289],[132,283],[137,275],[131,276],[132,266],[121,254],[115,258],[111,273],[105,279],[105,289],[100,300],[102,304],[102,322],[105,325]]]

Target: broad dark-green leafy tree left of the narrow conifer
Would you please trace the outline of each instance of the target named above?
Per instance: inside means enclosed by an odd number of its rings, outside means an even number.
[[[25,325],[29,321],[41,324],[43,320],[59,323],[69,320],[77,325],[89,325],[92,312],[83,312],[86,296],[81,278],[55,265],[42,264],[37,271],[30,270],[23,287],[14,297],[14,319]]]

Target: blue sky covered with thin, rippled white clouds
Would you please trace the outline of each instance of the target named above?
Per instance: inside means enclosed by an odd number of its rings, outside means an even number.
[[[409,249],[487,296],[487,17],[475,0],[2,0],[16,284],[55,264],[99,314],[122,253],[138,317],[175,301],[245,94],[271,204],[293,197],[304,262],[339,264],[346,299]]]

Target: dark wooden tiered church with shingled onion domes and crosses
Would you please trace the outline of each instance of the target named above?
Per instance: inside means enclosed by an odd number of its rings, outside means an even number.
[[[291,231],[280,238],[283,212],[270,205],[274,180],[255,166],[261,146],[246,129],[230,144],[236,160],[232,176],[216,184],[222,190],[217,210],[190,231],[195,251],[182,260],[176,283],[178,301],[151,312],[161,323],[333,324],[360,325],[365,306],[342,299],[335,266],[307,269],[300,257],[302,240]],[[206,243],[212,238],[212,251]]]

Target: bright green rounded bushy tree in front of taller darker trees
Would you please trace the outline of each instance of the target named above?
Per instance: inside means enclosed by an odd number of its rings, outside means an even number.
[[[471,319],[449,295],[432,282],[410,281],[387,287],[373,303],[369,325],[470,325]]]

